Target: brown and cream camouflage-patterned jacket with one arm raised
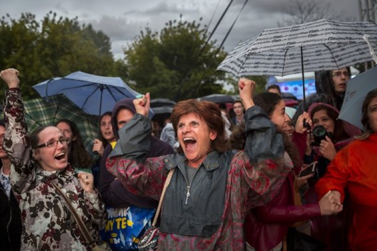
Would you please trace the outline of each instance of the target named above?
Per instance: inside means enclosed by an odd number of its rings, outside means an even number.
[[[48,172],[34,163],[19,88],[6,91],[4,113],[8,122],[4,149],[11,158],[11,184],[24,222],[21,250],[91,250],[51,183],[71,199],[97,241],[105,214],[99,194],[85,193],[69,165],[61,172]]]

